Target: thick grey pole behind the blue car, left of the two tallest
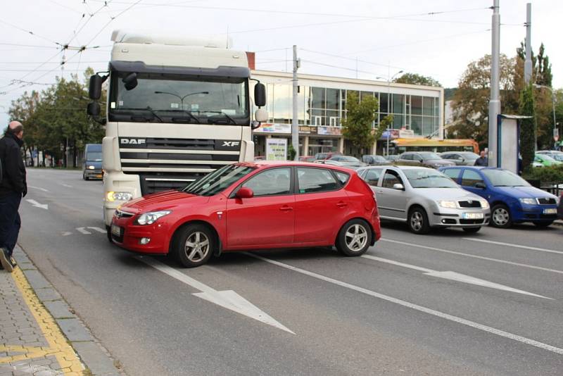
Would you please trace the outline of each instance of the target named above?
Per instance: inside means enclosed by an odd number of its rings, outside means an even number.
[[[493,0],[493,32],[491,40],[491,100],[488,103],[488,165],[498,167],[497,119],[500,114],[500,0]]]

